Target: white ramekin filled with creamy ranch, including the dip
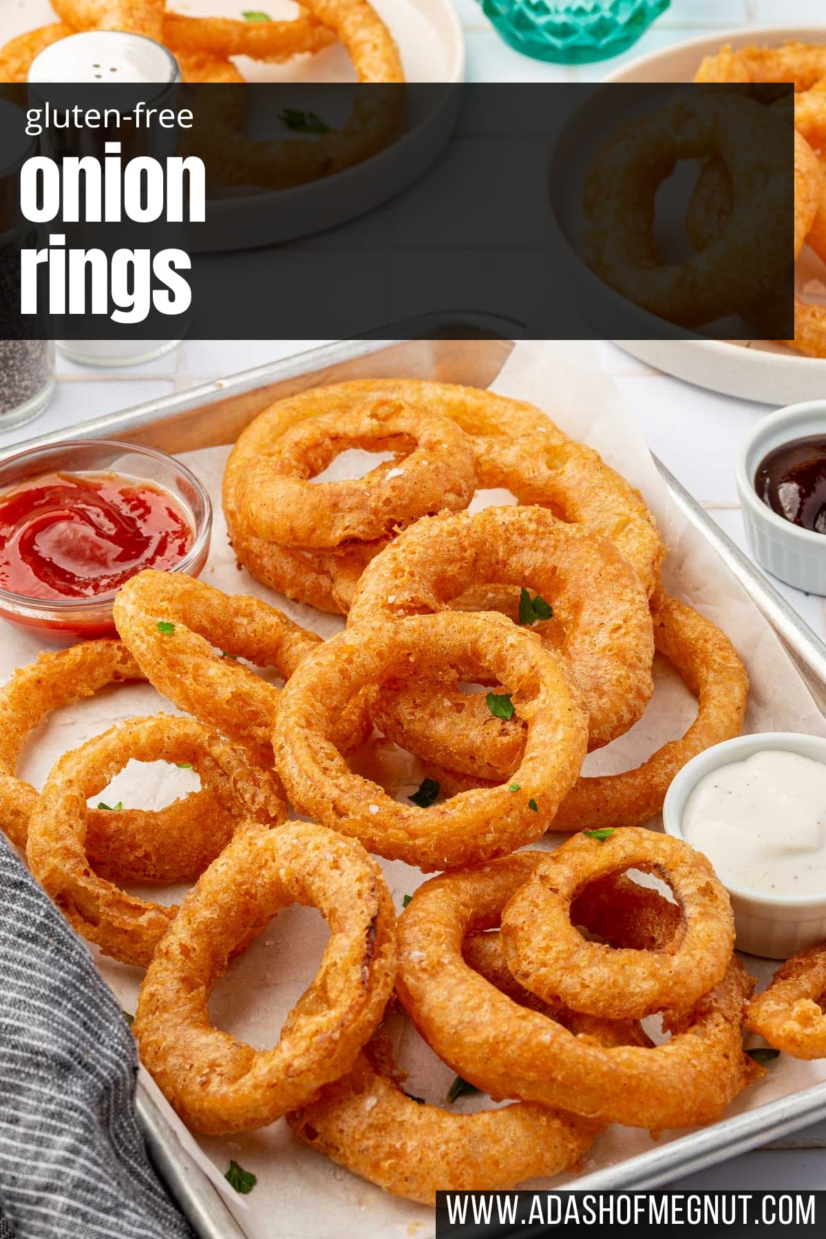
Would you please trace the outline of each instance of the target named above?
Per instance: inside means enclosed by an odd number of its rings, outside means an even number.
[[[713,745],[671,783],[663,823],[715,866],[738,950],[788,959],[826,940],[825,738],[775,731]]]

